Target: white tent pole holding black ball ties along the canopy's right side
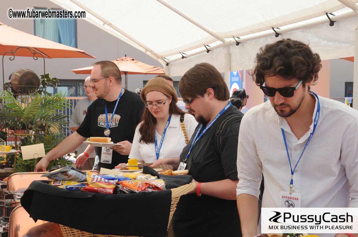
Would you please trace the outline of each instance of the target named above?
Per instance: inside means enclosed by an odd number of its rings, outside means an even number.
[[[331,19],[334,21],[338,21],[338,20],[343,20],[343,19],[348,19],[348,18],[352,18],[356,15],[356,13],[354,11],[349,11],[349,12],[345,12],[344,14],[339,14],[339,15],[335,15],[332,16]],[[318,18],[318,17],[315,17]],[[304,29],[306,27],[312,27],[312,26],[317,26],[317,25],[322,25],[322,24],[326,24],[329,23],[329,20],[327,17],[319,17],[319,19],[309,19],[309,20],[305,20],[306,22],[304,24],[297,24],[297,23],[293,23],[287,26],[277,26],[280,27],[280,30],[277,30],[277,32],[279,33],[286,33],[286,32],[291,32],[291,31],[295,31],[295,30],[301,30]],[[272,31],[272,29],[270,30],[265,30],[265,31],[261,31],[261,32],[257,32],[257,33],[253,33],[250,35],[246,35],[246,36],[240,36],[240,42],[246,42],[246,41],[250,41],[250,40],[256,40],[256,39],[261,39],[264,37],[268,37],[268,36],[273,36],[274,32]],[[236,41],[234,40],[230,40],[227,41],[228,44],[232,45],[232,44],[236,44]],[[222,43],[216,46],[211,46],[211,50],[213,49],[218,49],[220,47],[226,46],[226,44]],[[205,50],[201,50],[198,52],[195,52],[193,54],[188,54],[186,55],[186,57],[191,57],[194,55],[198,55],[201,54],[203,52],[206,52]],[[171,56],[171,55],[165,55],[165,56]],[[168,63],[172,63],[175,61],[179,61],[182,60],[181,57],[178,57],[177,59],[173,59],[173,60],[169,60]]]

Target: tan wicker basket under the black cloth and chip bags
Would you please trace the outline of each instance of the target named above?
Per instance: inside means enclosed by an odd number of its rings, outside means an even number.
[[[173,188],[171,190],[171,205],[170,205],[168,226],[171,222],[171,219],[173,218],[173,214],[176,209],[176,204],[179,202],[180,196],[187,194],[188,192],[192,191],[194,188],[195,188],[195,183],[191,182],[188,183],[187,185],[183,185],[178,188]],[[118,236],[118,235],[97,235],[63,225],[59,225],[59,226],[61,228],[63,237],[129,237],[129,236]],[[130,236],[130,237],[134,237],[134,236]]]

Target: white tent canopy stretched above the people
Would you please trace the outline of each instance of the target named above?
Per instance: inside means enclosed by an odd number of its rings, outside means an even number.
[[[228,80],[230,70],[251,69],[258,49],[282,38],[309,43],[322,59],[354,56],[358,48],[358,0],[50,1],[86,11],[85,20],[158,60],[171,76],[209,62]],[[358,83],[353,91],[358,106]]]

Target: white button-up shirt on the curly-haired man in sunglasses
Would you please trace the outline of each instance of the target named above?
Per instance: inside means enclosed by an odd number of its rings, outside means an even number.
[[[319,102],[316,130],[294,172],[294,191],[301,193],[301,207],[358,207],[358,111],[321,96]],[[289,191],[291,169],[281,128],[293,170],[313,122],[298,140],[270,101],[251,108],[241,121],[236,192],[258,197],[263,173],[262,207],[280,207],[280,192]]]

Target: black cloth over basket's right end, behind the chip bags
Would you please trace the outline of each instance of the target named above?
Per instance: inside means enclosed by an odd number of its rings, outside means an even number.
[[[162,175],[153,170],[149,166],[143,167],[143,173],[147,173],[149,175],[158,176],[159,178],[162,178],[166,183],[166,189],[169,188],[177,188],[182,185],[186,185],[190,182],[192,182],[193,177],[191,175]]]

